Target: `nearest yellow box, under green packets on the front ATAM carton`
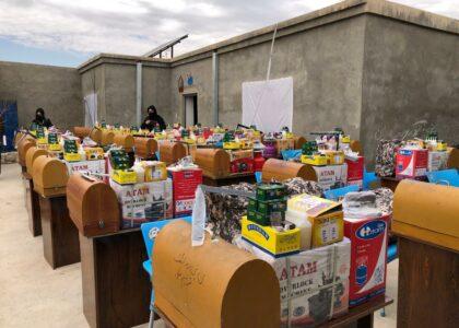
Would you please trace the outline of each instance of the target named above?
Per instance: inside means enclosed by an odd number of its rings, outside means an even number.
[[[279,232],[244,216],[240,221],[243,238],[274,257],[299,251],[299,229]]]

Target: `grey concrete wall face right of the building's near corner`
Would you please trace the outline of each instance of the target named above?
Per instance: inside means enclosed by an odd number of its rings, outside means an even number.
[[[401,137],[426,120],[458,142],[459,37],[368,15],[365,34],[361,140],[375,157],[378,137]]]

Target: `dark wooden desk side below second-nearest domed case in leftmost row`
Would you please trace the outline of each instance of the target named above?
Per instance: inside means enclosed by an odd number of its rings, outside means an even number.
[[[67,197],[39,197],[43,251],[52,269],[80,261],[76,226],[69,216]]]

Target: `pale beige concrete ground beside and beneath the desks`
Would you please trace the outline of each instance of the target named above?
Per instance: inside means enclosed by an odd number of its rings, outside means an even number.
[[[387,294],[397,298],[397,260],[388,271]],[[396,309],[375,314],[375,327],[396,327]],[[28,231],[17,164],[3,165],[0,175],[0,327],[89,327],[80,265],[52,270],[44,259],[42,237]]]

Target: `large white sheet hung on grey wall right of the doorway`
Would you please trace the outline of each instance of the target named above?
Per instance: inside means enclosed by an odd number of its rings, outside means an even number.
[[[257,126],[263,132],[292,130],[293,79],[243,83],[243,125]]]

